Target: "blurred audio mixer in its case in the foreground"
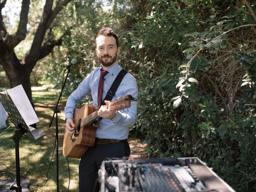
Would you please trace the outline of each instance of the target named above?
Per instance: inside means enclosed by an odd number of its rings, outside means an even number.
[[[235,192],[198,158],[103,161],[101,192]]]

